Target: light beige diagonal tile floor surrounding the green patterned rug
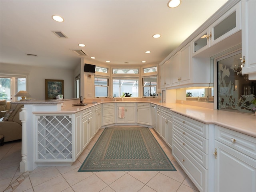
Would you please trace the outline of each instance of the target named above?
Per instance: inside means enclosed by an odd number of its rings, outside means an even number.
[[[0,147],[1,192],[197,192],[172,157],[171,149],[150,129],[177,171],[78,172],[103,129],[71,166],[38,167],[20,173],[21,141]]]

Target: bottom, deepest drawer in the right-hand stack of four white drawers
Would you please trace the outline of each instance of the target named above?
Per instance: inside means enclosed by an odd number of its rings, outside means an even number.
[[[208,191],[208,170],[194,160],[173,140],[172,154],[199,191]]]

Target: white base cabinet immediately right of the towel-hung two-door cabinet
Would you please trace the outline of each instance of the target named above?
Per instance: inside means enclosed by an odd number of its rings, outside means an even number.
[[[151,125],[151,111],[149,103],[137,104],[137,123]]]

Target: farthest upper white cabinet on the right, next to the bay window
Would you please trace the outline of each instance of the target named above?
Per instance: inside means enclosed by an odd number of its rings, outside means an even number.
[[[164,64],[162,64],[160,66],[161,88],[171,86],[170,73],[171,73],[171,64],[170,64],[170,59],[169,59],[166,62],[164,62]]]

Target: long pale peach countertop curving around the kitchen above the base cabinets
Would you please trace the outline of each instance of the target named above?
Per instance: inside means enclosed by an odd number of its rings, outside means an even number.
[[[31,101],[31,102],[18,102],[20,104],[57,104],[63,103],[63,101]],[[202,108],[198,106],[191,106],[185,104],[177,104],[177,103],[160,103],[160,102],[152,102],[152,101],[104,101],[98,102],[96,104],[88,104],[86,106],[72,106],[72,104],[68,104],[62,107],[61,111],[58,112],[49,112],[48,114],[74,114],[90,108],[92,106],[97,106],[102,103],[126,103],[126,102],[146,102],[156,104],[158,106],[163,106],[165,108],[170,109],[172,112],[184,115],[186,117],[192,118],[194,120],[198,120],[205,124],[215,124],[219,125],[237,132],[241,132],[243,134],[247,134],[249,136],[253,136],[256,138],[256,116],[251,114],[242,114],[237,112],[228,112],[224,110],[212,110],[209,108]],[[16,102],[14,102],[16,104]],[[34,112],[34,114],[45,114],[46,112]]]

